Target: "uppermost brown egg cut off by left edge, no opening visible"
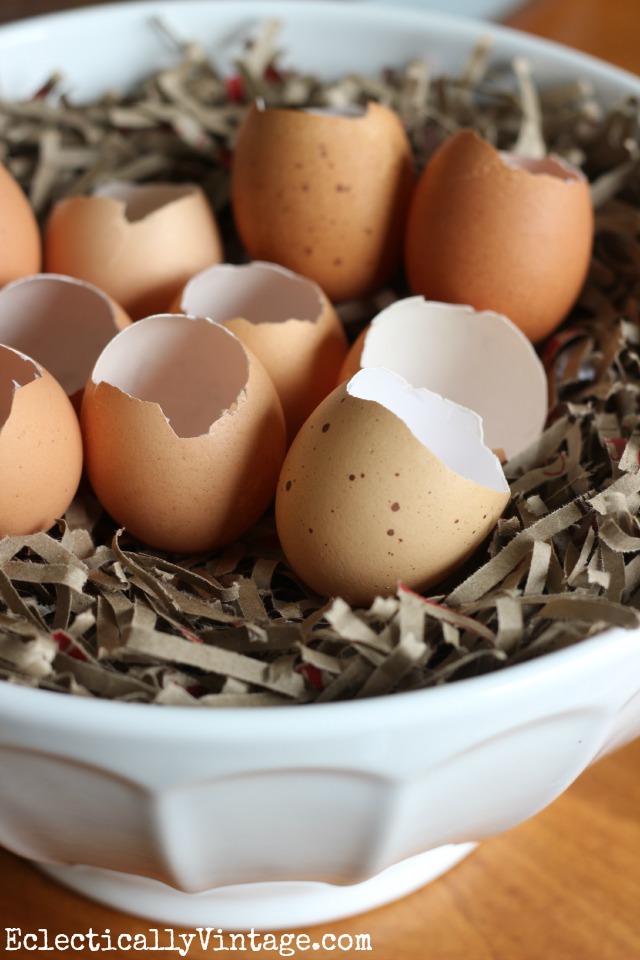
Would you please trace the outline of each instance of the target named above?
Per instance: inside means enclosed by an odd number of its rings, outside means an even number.
[[[42,242],[35,213],[18,181],[0,163],[0,286],[37,273]]]

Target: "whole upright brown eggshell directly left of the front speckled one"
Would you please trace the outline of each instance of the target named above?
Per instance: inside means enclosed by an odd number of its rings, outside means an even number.
[[[122,330],[98,358],[81,423],[96,496],[152,547],[215,550],[273,499],[280,401],[262,364],[206,318],[162,314]]]

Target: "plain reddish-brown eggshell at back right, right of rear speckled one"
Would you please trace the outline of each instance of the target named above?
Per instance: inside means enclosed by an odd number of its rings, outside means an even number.
[[[416,186],[405,237],[413,293],[503,313],[538,343],[573,306],[593,245],[589,184],[559,157],[450,136]]]

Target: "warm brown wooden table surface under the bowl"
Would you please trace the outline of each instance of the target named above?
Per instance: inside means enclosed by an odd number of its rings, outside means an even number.
[[[0,0],[0,22],[82,5]],[[532,0],[508,22],[640,73],[640,0]],[[0,956],[20,960],[35,953],[5,954],[5,927],[45,928],[51,938],[93,927],[115,938],[153,926],[58,887],[6,851],[0,851],[0,921]],[[419,892],[307,932],[313,940],[327,931],[368,933],[372,960],[640,957],[640,741],[601,760],[545,811],[485,841]],[[189,953],[211,955],[195,946]]]

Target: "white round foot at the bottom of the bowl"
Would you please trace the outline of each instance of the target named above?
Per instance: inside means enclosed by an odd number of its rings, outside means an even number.
[[[54,880],[106,906],[161,923],[223,930],[282,930],[373,910],[418,890],[466,857],[475,843],[446,844],[361,883],[277,881],[184,893],[146,877],[83,865],[37,864]]]

